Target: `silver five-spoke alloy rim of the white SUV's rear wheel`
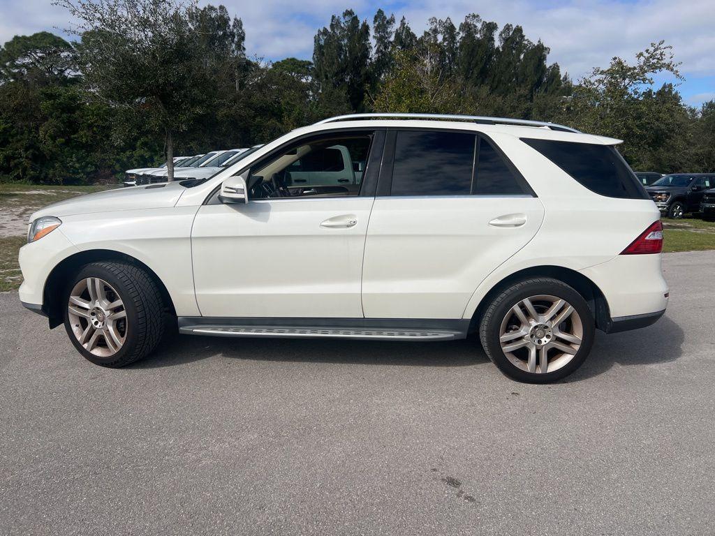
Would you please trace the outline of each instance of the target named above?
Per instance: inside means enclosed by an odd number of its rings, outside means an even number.
[[[522,299],[501,322],[499,342],[507,359],[525,372],[546,374],[571,362],[583,340],[576,309],[556,296]]]

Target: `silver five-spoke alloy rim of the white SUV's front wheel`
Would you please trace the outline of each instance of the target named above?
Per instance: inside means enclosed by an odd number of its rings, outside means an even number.
[[[87,277],[74,285],[67,304],[72,332],[97,357],[111,357],[127,339],[127,310],[104,279]]]

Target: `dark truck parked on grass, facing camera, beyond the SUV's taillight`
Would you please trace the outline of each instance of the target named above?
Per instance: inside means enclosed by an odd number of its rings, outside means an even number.
[[[669,218],[699,212],[706,190],[715,187],[715,174],[675,173],[661,177],[646,187],[656,207]]]

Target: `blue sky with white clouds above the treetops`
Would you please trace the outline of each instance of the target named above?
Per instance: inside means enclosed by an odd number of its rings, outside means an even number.
[[[207,2],[202,1],[202,4]],[[382,7],[399,20],[406,16],[418,34],[430,16],[450,16],[458,25],[464,16],[521,24],[526,35],[551,48],[573,79],[613,56],[633,59],[652,41],[666,39],[682,62],[686,81],[679,91],[688,104],[715,99],[715,0],[224,0],[244,21],[247,52],[264,59],[297,56],[309,59],[315,31],[330,15],[350,7],[371,23]],[[0,42],[15,34],[66,28],[69,19],[50,0],[0,0]],[[664,81],[660,79],[659,81]]]

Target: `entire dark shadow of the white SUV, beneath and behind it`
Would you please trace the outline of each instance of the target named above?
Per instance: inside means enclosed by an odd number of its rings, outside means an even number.
[[[632,332],[596,332],[591,355],[564,382],[578,382],[606,372],[613,364],[669,362],[681,355],[684,332],[668,317]],[[252,361],[376,364],[408,367],[469,367],[489,364],[474,335],[450,342],[392,342],[344,339],[250,339],[174,335],[157,352],[132,368],[172,367],[230,357]]]

